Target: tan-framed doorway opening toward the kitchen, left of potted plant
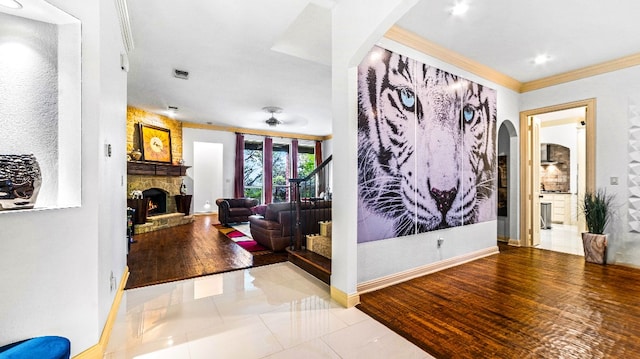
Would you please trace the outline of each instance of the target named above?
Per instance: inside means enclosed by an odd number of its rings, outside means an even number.
[[[595,99],[588,99],[520,113],[520,245],[551,249],[554,229],[558,238],[584,230],[578,203],[584,191],[595,188],[595,106]],[[558,132],[570,127],[576,140],[565,146]],[[573,147],[573,159],[567,147]]]

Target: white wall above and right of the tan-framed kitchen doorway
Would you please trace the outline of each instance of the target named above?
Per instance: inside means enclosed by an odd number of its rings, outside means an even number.
[[[616,194],[617,215],[611,234],[609,263],[640,265],[640,235],[629,232],[627,219],[627,166],[629,98],[640,94],[640,66],[527,92],[521,109],[530,110],[589,98],[596,99],[596,187]],[[619,185],[610,185],[618,177]]]

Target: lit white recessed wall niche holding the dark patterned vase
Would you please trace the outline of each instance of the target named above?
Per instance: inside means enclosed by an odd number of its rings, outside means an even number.
[[[0,154],[35,156],[35,210],[81,204],[80,25],[43,0],[0,6]]]

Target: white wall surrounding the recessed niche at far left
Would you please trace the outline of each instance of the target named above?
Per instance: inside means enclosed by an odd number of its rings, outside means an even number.
[[[126,265],[126,75],[112,2],[50,2],[82,21],[82,206],[0,216],[0,345],[60,335],[75,355],[98,343],[108,274],[119,283]]]

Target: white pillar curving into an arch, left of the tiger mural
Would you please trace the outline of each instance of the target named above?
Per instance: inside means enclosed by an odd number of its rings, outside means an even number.
[[[357,293],[360,270],[354,225],[358,199],[357,66],[375,42],[416,2],[342,0],[332,11],[332,147],[336,153],[332,162],[336,178],[332,189],[335,235],[331,286],[348,298]]]

